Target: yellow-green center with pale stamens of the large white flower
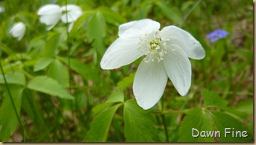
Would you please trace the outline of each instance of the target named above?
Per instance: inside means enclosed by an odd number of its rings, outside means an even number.
[[[150,39],[147,44],[147,51],[145,54],[146,57],[144,58],[144,61],[154,62],[154,59],[157,59],[157,61],[160,62],[161,60],[163,60],[164,54],[167,53],[165,51],[166,41],[169,41],[169,39],[162,39],[159,31],[157,31],[157,33],[154,33],[152,39]]]

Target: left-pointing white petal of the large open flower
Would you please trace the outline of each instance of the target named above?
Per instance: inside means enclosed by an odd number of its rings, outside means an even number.
[[[139,38],[116,39],[102,57],[102,69],[119,68],[143,56],[145,52],[139,49],[139,42]]]

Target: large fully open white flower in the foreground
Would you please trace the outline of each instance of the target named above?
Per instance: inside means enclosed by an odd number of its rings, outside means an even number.
[[[144,57],[134,77],[133,91],[139,106],[150,109],[163,95],[169,79],[181,96],[191,84],[188,57],[203,59],[205,50],[190,33],[175,26],[159,31],[160,24],[151,19],[119,26],[119,38],[105,52],[101,67],[119,68]]]

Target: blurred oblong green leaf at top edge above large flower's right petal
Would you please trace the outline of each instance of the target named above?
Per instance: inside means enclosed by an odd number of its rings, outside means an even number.
[[[171,19],[173,22],[181,22],[181,15],[178,13],[173,7],[171,7],[171,4],[164,4],[162,1],[157,1],[155,4],[157,4],[157,7],[162,10],[163,14],[168,18]]]

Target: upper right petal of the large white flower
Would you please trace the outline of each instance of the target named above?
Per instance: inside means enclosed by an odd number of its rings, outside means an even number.
[[[205,50],[202,45],[190,33],[175,26],[167,26],[160,31],[163,39],[169,39],[169,44],[181,47],[192,59],[203,59]]]

